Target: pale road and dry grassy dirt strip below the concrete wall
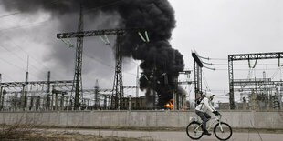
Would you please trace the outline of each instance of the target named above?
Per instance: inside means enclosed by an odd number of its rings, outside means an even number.
[[[283,130],[233,128],[233,140],[280,140]],[[204,136],[204,140],[215,140],[215,136]],[[140,140],[188,140],[184,128],[154,127],[64,127],[36,126],[35,124],[0,126],[0,140],[35,141],[140,141]]]

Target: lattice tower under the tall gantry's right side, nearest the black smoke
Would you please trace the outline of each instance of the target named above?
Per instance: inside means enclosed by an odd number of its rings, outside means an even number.
[[[117,36],[117,44],[116,44],[116,65],[115,65],[115,76],[114,76],[114,84],[113,84],[113,92],[112,92],[112,100],[111,107],[113,109],[120,110],[121,108],[121,97],[124,96],[123,92],[123,80],[122,80],[122,56],[121,56],[121,45],[120,36]]]

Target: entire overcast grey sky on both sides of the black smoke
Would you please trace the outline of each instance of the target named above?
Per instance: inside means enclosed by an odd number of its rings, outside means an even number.
[[[170,0],[175,10],[177,21],[173,30],[171,43],[178,49],[185,62],[185,68],[193,70],[194,61],[191,50],[199,55],[217,58],[216,60],[204,60],[214,63],[209,67],[215,71],[204,69],[205,81],[203,88],[211,90],[216,96],[225,95],[228,92],[227,55],[280,52],[282,51],[283,31],[283,2],[281,0]],[[60,32],[58,19],[50,14],[38,12],[37,14],[14,14],[7,12],[0,6],[0,72],[3,82],[24,81],[26,72],[26,60],[29,55],[30,80],[46,80],[47,70],[51,70],[51,78],[73,79],[74,64],[66,64],[68,69],[58,66],[58,60],[52,58],[52,47],[61,47],[66,55],[73,54],[74,49],[68,48],[56,38]],[[2,16],[8,15],[8,16]],[[110,15],[100,15],[109,22]],[[69,20],[68,15],[61,17]],[[70,28],[77,29],[77,21],[69,21]],[[86,18],[88,23],[88,18]],[[88,25],[86,30],[96,29],[99,25]],[[110,25],[113,27],[115,24]],[[68,28],[69,29],[69,28]],[[110,42],[113,42],[110,37]],[[76,40],[71,40],[73,44]],[[103,45],[99,38],[86,38],[83,82],[85,87],[93,87],[96,79],[100,81],[100,87],[111,88],[114,76],[114,61],[111,46]],[[54,46],[54,43],[58,46]],[[91,54],[89,51],[91,51]],[[88,56],[87,56],[88,55]],[[107,55],[108,59],[100,59],[100,55]],[[65,59],[74,59],[74,56]],[[71,60],[69,62],[74,62]],[[281,61],[283,62],[283,61]],[[124,86],[134,86],[136,68],[139,62],[127,59],[124,61]],[[248,63],[242,61],[236,63],[236,78],[246,78]],[[256,71],[251,77],[262,77],[262,72],[267,72],[267,77],[274,76],[278,72],[278,60],[258,61]],[[91,67],[86,67],[91,66]],[[208,66],[208,65],[207,65]],[[217,70],[218,69],[218,70]],[[246,69],[246,70],[244,70]],[[256,74],[256,76],[255,76]],[[193,78],[194,75],[191,76]],[[279,72],[275,79],[280,79]],[[182,76],[181,79],[185,79]],[[183,86],[194,97],[192,86]],[[134,93],[134,90],[128,90]],[[227,96],[221,100],[228,101]]]

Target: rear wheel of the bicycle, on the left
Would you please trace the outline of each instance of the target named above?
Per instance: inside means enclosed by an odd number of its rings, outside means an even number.
[[[200,139],[204,135],[203,128],[200,125],[198,122],[191,122],[186,128],[187,135],[192,139]]]

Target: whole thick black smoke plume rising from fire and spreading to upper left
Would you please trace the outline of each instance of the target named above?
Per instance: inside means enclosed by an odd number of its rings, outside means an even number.
[[[143,42],[137,33],[124,35],[120,43],[122,54],[142,60],[140,86],[142,90],[147,90],[148,99],[153,99],[155,91],[159,106],[163,106],[173,97],[178,72],[183,71],[184,65],[183,55],[169,43],[175,19],[173,8],[167,0],[2,0],[2,3],[7,10],[26,13],[43,10],[54,17],[78,14],[79,5],[83,5],[89,15],[96,16],[100,12],[119,15],[117,28],[144,28],[148,31],[150,42]],[[67,26],[64,21],[62,24]]]

